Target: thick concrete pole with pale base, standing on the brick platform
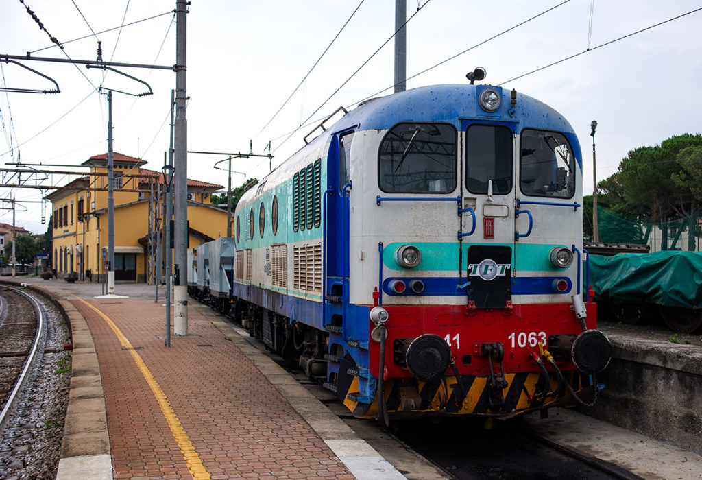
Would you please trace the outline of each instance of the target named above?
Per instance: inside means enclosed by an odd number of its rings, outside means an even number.
[[[187,89],[185,88],[185,33],[187,1],[176,1],[176,122],[175,168],[176,168],[176,218],[175,218],[175,270],[173,296],[176,300],[176,335],[187,335],[187,118],[185,108]]]

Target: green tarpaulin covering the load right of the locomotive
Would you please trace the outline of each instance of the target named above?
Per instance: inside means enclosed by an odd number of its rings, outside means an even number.
[[[598,302],[701,308],[702,253],[590,255],[590,284]]]

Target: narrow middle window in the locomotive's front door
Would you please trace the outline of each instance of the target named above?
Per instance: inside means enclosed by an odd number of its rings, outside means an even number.
[[[505,126],[472,125],[465,134],[465,186],[474,194],[512,192],[512,131]]]

